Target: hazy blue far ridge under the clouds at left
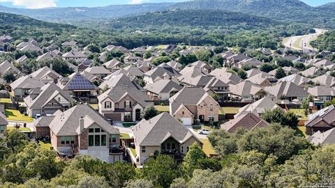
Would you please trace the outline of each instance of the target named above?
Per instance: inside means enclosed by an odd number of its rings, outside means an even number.
[[[103,7],[70,7],[70,8],[8,8],[0,6],[0,12],[26,15],[48,22],[78,22],[87,19],[111,19],[126,15],[140,15],[150,11],[163,10],[173,3],[143,3],[135,5],[113,5]]]

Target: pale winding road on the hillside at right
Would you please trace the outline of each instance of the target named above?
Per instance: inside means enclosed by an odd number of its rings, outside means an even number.
[[[318,36],[320,36],[322,33],[325,33],[325,29],[315,29],[315,33],[308,34],[305,36],[291,36],[288,38],[283,39],[283,45],[289,49],[309,49],[309,50],[316,50],[313,48],[309,43],[312,40],[315,40]],[[304,46],[304,47],[302,47]]]

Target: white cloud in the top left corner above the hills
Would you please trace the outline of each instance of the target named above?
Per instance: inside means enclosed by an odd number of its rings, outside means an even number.
[[[13,6],[25,8],[47,8],[55,7],[57,0],[0,0],[1,3],[12,3]]]

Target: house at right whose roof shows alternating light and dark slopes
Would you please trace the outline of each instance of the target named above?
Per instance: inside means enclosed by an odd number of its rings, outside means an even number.
[[[276,100],[305,100],[309,93],[304,88],[297,86],[293,82],[281,81],[275,86],[265,87],[265,91]]]

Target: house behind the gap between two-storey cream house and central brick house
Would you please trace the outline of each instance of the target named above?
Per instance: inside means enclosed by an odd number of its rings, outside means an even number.
[[[170,79],[160,79],[154,83],[147,84],[144,89],[152,100],[169,100],[174,94],[181,91],[183,87]]]

